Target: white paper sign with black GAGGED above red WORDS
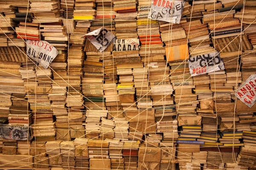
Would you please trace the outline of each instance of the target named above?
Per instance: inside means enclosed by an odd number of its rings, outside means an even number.
[[[219,71],[225,68],[218,52],[189,57],[188,64],[191,76]]]

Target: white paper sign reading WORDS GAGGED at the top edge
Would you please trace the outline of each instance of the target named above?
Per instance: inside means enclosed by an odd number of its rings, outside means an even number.
[[[184,4],[183,0],[152,0],[148,18],[178,24]]]

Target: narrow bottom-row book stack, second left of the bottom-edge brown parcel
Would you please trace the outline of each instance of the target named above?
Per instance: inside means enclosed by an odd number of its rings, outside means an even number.
[[[75,143],[73,141],[63,141],[60,144],[62,155],[62,166],[75,166]]]

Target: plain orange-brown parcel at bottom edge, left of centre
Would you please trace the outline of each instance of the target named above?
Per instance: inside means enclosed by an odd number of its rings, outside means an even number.
[[[110,159],[90,159],[90,169],[97,170],[110,170],[111,169],[111,160]]]

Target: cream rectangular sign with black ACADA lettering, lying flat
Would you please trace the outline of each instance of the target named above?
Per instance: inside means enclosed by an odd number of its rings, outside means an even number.
[[[140,41],[136,38],[116,39],[113,42],[113,51],[131,51],[139,50]]]

